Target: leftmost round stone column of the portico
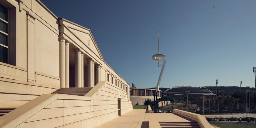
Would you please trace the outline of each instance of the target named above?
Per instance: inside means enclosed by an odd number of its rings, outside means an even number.
[[[63,37],[59,37],[60,43],[60,87],[65,88],[65,41]]]

